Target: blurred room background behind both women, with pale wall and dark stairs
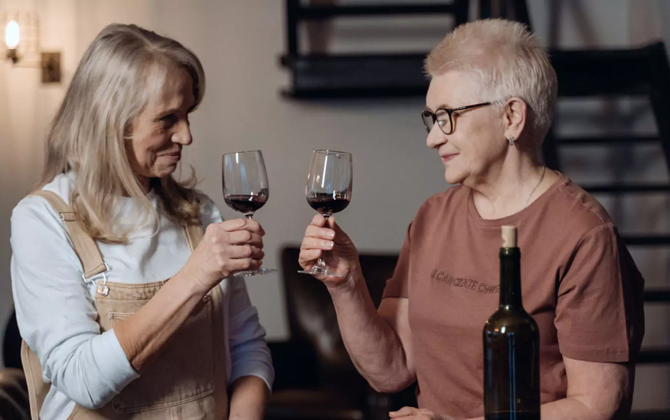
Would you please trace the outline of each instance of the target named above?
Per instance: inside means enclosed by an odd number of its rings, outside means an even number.
[[[421,58],[456,23],[482,16],[526,21],[553,52],[560,98],[543,159],[589,188],[628,241],[649,289],[634,411],[670,418],[665,0],[0,0],[0,25],[17,21],[23,34],[15,56],[7,49],[0,62],[0,338],[15,334],[11,210],[38,181],[46,130],[85,48],[109,23],[136,23],[204,64],[207,92],[182,166],[185,175],[196,169],[225,218],[239,214],[224,204],[221,154],[265,156],[271,194],[255,218],[267,231],[264,265],[280,270],[247,285],[275,356],[269,417],[387,418],[411,402],[411,389],[389,396],[366,387],[327,294],[293,275],[314,214],[304,184],[313,149],[352,153],[353,199],[337,220],[364,254],[379,298],[413,214],[449,188],[425,147]],[[13,365],[11,346],[0,368]]]

